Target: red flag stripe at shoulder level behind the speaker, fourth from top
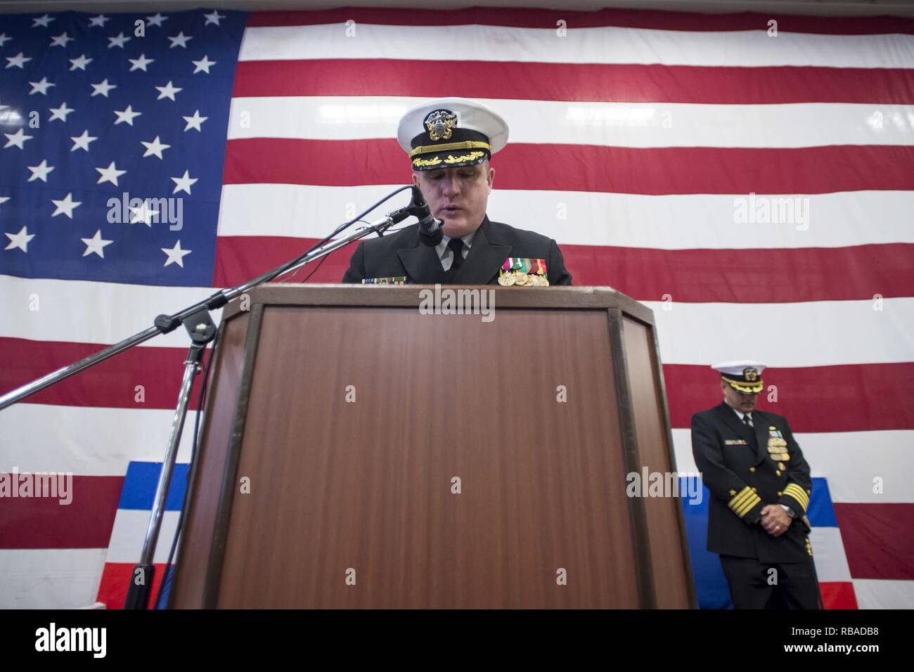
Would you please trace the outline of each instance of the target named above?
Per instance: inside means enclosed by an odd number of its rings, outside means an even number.
[[[287,237],[220,237],[214,284],[228,287],[243,283],[316,242]],[[339,283],[355,250],[351,245],[332,254],[311,282]],[[673,301],[686,303],[760,304],[872,299],[877,293],[885,298],[914,296],[911,244],[761,250],[562,245],[561,251],[575,284],[615,287],[638,301],[662,301],[666,294]],[[313,270],[314,266],[305,267],[294,282],[301,282]]]

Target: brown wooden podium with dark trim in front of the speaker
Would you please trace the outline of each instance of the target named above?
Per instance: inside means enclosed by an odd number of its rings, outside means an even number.
[[[678,498],[626,496],[675,472],[653,313],[473,289],[491,321],[422,285],[226,307],[172,607],[696,606]]]

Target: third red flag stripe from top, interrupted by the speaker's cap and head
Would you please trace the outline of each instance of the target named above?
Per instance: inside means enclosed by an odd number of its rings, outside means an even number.
[[[798,149],[509,144],[495,186],[617,194],[827,194],[914,189],[914,147]],[[407,184],[396,140],[229,140],[225,184]]]

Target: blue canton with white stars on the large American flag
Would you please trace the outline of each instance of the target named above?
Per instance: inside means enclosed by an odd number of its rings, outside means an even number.
[[[245,19],[0,16],[0,273],[212,283]]]

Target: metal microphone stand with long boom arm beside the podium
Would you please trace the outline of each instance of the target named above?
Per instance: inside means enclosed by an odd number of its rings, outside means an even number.
[[[216,337],[217,327],[213,323],[212,316],[209,315],[209,312],[221,308],[232,299],[238,298],[241,294],[248,292],[260,284],[269,283],[271,280],[284,273],[300,269],[314,260],[320,259],[333,251],[345,247],[345,245],[348,245],[354,240],[364,238],[369,233],[377,232],[378,235],[383,235],[384,231],[388,230],[394,224],[403,221],[403,219],[407,219],[411,214],[411,210],[412,208],[407,207],[388,212],[387,215],[377,219],[377,221],[368,224],[365,227],[359,227],[342,238],[331,240],[320,247],[314,248],[314,250],[296,257],[292,261],[287,261],[282,264],[282,266],[279,266],[272,271],[265,272],[247,283],[239,284],[237,287],[220,290],[207,299],[197,302],[197,304],[187,306],[184,310],[180,310],[174,315],[158,315],[155,318],[154,326],[151,326],[138,334],[134,334],[129,338],[125,338],[120,343],[115,343],[113,346],[106,347],[89,357],[83,357],[73,364],[58,368],[58,370],[48,373],[48,375],[43,378],[33,380],[26,385],[22,385],[21,387],[0,396],[0,410],[3,410],[7,406],[15,404],[16,401],[26,399],[42,389],[56,385],[61,380],[68,379],[70,376],[75,376],[80,373],[80,371],[94,367],[96,364],[101,364],[101,362],[106,359],[119,355],[134,346],[138,346],[154,336],[168,334],[174,331],[178,325],[185,326],[187,334],[191,339],[191,345],[184,362],[184,375],[181,379],[181,387],[178,390],[177,406],[175,408],[175,416],[172,420],[171,432],[168,437],[168,448],[165,451],[165,460],[162,463],[162,473],[159,475],[159,481],[155,485],[153,510],[149,517],[149,525],[146,528],[145,538],[143,539],[143,551],[140,555],[140,561],[133,566],[133,573],[131,574],[130,587],[127,592],[124,609],[145,609],[149,603],[155,572],[153,564],[155,546],[158,543],[159,532],[162,528],[162,517],[165,514],[165,499],[168,496],[168,487],[171,484],[172,474],[175,470],[177,449],[178,444],[181,442],[181,433],[184,430],[190,392],[194,386],[194,378],[200,373],[203,354],[209,343]],[[199,411],[202,411],[202,409],[199,409],[198,412]]]

